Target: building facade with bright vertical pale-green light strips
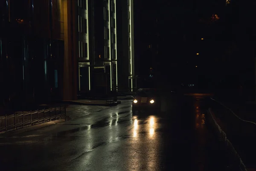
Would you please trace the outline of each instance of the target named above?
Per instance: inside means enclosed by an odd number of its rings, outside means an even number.
[[[80,94],[132,89],[133,1],[78,0]]]

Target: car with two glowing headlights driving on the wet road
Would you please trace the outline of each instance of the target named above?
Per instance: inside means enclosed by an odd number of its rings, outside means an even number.
[[[144,88],[137,90],[132,101],[132,111],[150,110],[160,112],[160,95],[156,89]]]

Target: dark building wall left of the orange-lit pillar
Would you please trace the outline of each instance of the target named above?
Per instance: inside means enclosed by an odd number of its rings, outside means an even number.
[[[59,27],[50,28],[49,2],[10,1],[10,22],[6,4],[1,6],[1,104],[18,108],[61,98],[64,41]],[[50,30],[59,30],[53,34],[59,40],[50,41]]]

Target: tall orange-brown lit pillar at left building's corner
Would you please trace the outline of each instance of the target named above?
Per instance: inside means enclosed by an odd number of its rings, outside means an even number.
[[[78,14],[77,1],[64,0],[64,70],[63,99],[77,99]]]

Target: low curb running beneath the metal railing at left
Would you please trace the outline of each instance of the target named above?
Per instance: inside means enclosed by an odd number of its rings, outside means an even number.
[[[17,134],[20,134],[20,133],[24,133],[24,132],[28,132],[28,131],[32,131],[32,130],[36,130],[36,129],[40,129],[40,128],[44,128],[44,127],[47,127],[47,126],[50,126],[50,125],[55,125],[55,124],[65,122],[65,121],[68,121],[68,120],[70,120],[70,116],[66,116],[66,118],[64,118],[64,119],[58,119],[58,120],[55,120],[55,121],[44,122],[44,123],[41,123],[41,124],[27,126],[25,128],[20,128],[20,129],[17,129],[17,130],[13,130],[13,131],[10,131],[10,132],[0,133],[0,139],[10,137],[10,136],[14,136],[14,135],[17,135]]]

